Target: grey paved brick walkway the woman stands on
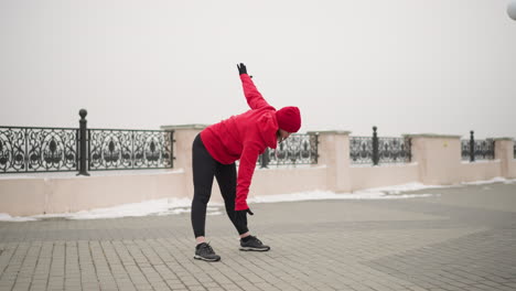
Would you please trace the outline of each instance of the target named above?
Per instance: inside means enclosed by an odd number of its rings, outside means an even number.
[[[208,216],[212,263],[187,214],[0,222],[0,290],[516,290],[516,184],[420,193],[255,204],[260,254]]]

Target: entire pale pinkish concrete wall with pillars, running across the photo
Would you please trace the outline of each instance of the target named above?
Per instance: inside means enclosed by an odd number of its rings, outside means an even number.
[[[192,197],[192,142],[201,125],[163,127],[175,130],[174,169],[0,176],[0,213],[12,216],[78,212],[164,197]],[[314,133],[314,132],[312,132]],[[461,161],[459,136],[409,134],[412,162],[357,166],[350,163],[350,132],[320,131],[319,164],[257,169],[249,196],[314,190],[352,191],[421,182],[450,185],[460,182],[516,177],[512,139],[495,140],[495,160]],[[212,200],[222,202],[214,181]]]

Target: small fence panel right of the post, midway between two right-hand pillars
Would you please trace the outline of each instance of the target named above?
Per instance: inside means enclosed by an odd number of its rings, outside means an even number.
[[[408,138],[378,138],[379,163],[408,163],[410,148]]]

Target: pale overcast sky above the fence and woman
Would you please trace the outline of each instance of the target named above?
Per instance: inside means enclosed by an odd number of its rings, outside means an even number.
[[[159,129],[247,110],[301,131],[516,138],[507,0],[0,0],[0,126]]]

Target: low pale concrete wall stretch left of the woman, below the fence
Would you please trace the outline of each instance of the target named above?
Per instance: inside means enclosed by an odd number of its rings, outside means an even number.
[[[185,173],[123,174],[103,173],[99,176],[42,173],[42,177],[2,177],[0,180],[0,213],[35,215],[79,212],[126,203],[139,203],[186,194]]]

